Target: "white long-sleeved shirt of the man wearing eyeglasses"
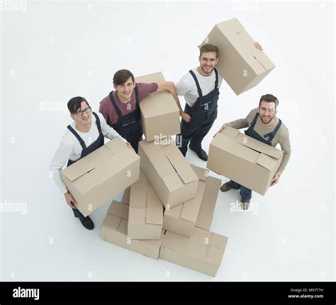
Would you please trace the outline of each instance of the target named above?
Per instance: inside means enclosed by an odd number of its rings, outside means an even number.
[[[121,137],[119,133],[117,133],[112,127],[108,126],[105,118],[101,113],[97,113],[99,116],[99,120],[101,121],[101,132],[103,136],[108,139],[113,139],[116,137]],[[96,117],[91,115],[91,128],[87,133],[82,133],[81,131],[77,131],[76,122],[74,121],[71,126],[74,128],[74,131],[78,133],[78,135],[84,140],[86,147],[89,147],[91,143],[94,143],[95,140],[99,137],[99,132],[96,124]],[[121,137],[121,139],[127,143],[127,140]],[[52,177],[55,181],[55,184],[60,189],[62,194],[67,192],[67,187],[62,181],[61,178],[61,170],[67,165],[68,160],[79,160],[82,154],[82,145],[79,143],[79,140],[74,136],[74,134],[67,130],[65,134],[62,136],[60,146],[57,148],[55,156],[52,158],[50,162],[49,170],[52,172]]]

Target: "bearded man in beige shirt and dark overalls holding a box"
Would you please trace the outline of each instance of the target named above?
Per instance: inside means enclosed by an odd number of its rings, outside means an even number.
[[[279,143],[281,150],[284,151],[284,157],[281,161],[279,170],[276,172],[276,174],[274,174],[274,177],[271,181],[271,186],[279,182],[280,176],[282,172],[284,172],[285,167],[289,162],[289,157],[291,157],[289,130],[286,128],[284,123],[282,123],[282,121],[276,117],[276,108],[278,104],[279,101],[274,95],[265,94],[260,98],[259,107],[250,111],[246,118],[240,118],[236,121],[225,123],[217,132],[220,133],[220,131],[223,131],[226,126],[230,126],[236,129],[249,127],[245,131],[246,135],[273,147],[276,147],[276,145]],[[252,190],[247,189],[247,187],[244,187],[243,185],[240,185],[233,180],[224,183],[220,187],[220,191],[222,192],[228,192],[230,189],[240,189],[240,195],[242,196],[242,209],[248,209],[250,205],[250,199],[252,198]]]

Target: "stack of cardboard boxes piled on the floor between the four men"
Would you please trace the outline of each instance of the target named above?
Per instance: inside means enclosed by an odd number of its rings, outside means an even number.
[[[164,81],[161,73],[136,80]],[[102,238],[215,276],[228,240],[209,231],[220,180],[189,165],[172,140],[170,135],[179,133],[179,109],[171,94],[150,94],[140,111],[146,136],[139,143],[140,178],[125,190],[121,201],[112,202],[101,227]],[[166,121],[169,124],[162,124]]]

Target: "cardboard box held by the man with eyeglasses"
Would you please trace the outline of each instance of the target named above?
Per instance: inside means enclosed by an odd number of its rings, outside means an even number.
[[[88,216],[139,179],[140,157],[114,138],[61,172],[78,209]]]

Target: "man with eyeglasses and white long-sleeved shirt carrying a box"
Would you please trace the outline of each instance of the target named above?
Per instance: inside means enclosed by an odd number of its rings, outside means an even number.
[[[93,221],[91,221],[89,216],[84,217],[77,209],[77,202],[62,182],[60,172],[66,164],[67,166],[72,165],[72,163],[103,146],[104,138],[113,139],[120,135],[107,125],[101,113],[97,114],[91,111],[91,107],[84,97],[73,97],[67,103],[67,108],[74,122],[72,125],[67,126],[67,130],[62,137],[55,156],[50,162],[49,168],[55,184],[60,189],[60,192],[65,195],[65,201],[72,208],[74,216],[79,218],[84,228],[92,230],[94,228]],[[93,120],[91,119],[91,114],[94,115]],[[121,139],[125,142],[125,145],[127,143],[128,148],[132,149],[130,143],[124,138]]]

